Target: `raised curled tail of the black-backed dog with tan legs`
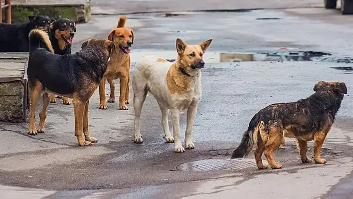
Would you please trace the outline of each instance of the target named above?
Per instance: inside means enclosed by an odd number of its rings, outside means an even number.
[[[40,48],[40,44],[44,45],[44,48],[49,50],[51,53],[54,53],[53,46],[51,45],[49,35],[40,29],[32,29],[29,32],[29,52]]]

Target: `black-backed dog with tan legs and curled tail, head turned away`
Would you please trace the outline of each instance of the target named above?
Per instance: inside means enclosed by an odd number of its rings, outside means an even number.
[[[45,49],[39,48],[39,42]],[[73,98],[75,136],[78,145],[91,145],[97,139],[88,130],[89,99],[97,89],[110,60],[115,44],[108,39],[89,39],[75,54],[54,54],[48,34],[39,29],[29,33],[29,60],[27,68],[30,93],[29,135],[44,133],[46,109],[50,93]],[[39,125],[35,128],[35,109],[43,93],[43,108]]]

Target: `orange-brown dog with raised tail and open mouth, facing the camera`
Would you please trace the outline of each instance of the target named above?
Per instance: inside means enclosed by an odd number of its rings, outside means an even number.
[[[128,110],[129,83],[130,83],[130,47],[134,44],[134,31],[125,27],[126,16],[121,16],[117,28],[110,31],[108,39],[119,46],[119,50],[113,52],[108,69],[99,84],[99,109],[107,109],[105,100],[105,81],[110,85],[108,102],[115,102],[115,79],[120,79],[119,109]]]

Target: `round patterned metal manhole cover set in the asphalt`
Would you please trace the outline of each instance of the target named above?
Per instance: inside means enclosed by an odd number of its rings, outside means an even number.
[[[262,160],[263,164],[267,161]],[[216,171],[216,170],[239,170],[256,167],[254,159],[207,159],[183,163],[176,167],[181,171]]]

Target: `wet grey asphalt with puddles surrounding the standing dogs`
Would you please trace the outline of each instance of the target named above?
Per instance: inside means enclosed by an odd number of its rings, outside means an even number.
[[[175,59],[176,37],[189,44],[213,38],[204,55],[202,100],[193,131],[195,149],[176,154],[173,144],[165,143],[161,113],[151,95],[141,117],[144,143],[135,144],[132,96],[127,111],[118,110],[118,103],[108,103],[108,110],[99,110],[98,91],[90,101],[89,122],[90,132],[99,142],[78,147],[73,135],[73,106],[62,105],[57,99],[49,105],[45,134],[27,136],[27,123],[0,123],[0,193],[5,198],[33,199],[219,198],[220,194],[223,198],[274,194],[286,199],[352,198],[353,65],[337,60],[352,56],[353,25],[351,19],[346,24],[319,20],[320,15],[334,13],[307,9],[316,15],[308,16],[302,9],[128,15],[127,27],[135,31],[132,70],[143,55]],[[118,17],[94,16],[89,23],[79,24],[73,51],[87,38],[106,38]],[[329,54],[314,56],[313,61],[219,62],[221,52],[271,55],[290,51]],[[322,151],[328,159],[326,165],[301,164],[290,139],[275,154],[282,170],[258,171],[251,162],[253,157],[229,162],[242,132],[259,109],[306,98],[320,80],[344,81],[349,92]],[[119,93],[119,86],[116,90]],[[182,112],[182,137],[184,131]],[[310,146],[311,156],[312,143]]]

